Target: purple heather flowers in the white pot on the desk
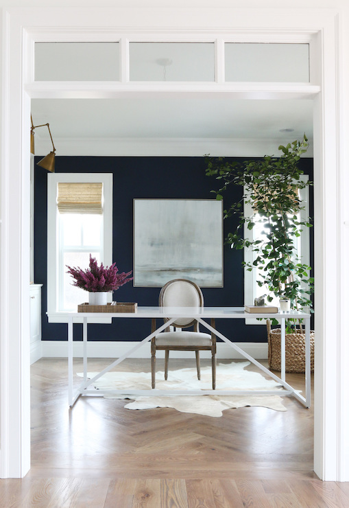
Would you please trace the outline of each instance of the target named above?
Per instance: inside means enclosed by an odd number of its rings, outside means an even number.
[[[115,291],[126,284],[126,282],[132,281],[133,277],[129,277],[131,272],[118,273],[118,268],[113,263],[111,266],[104,268],[103,263],[98,266],[95,257],[90,254],[90,268],[82,270],[79,266],[77,268],[71,268],[67,265],[69,273],[75,281],[73,286],[82,288],[85,291],[96,292],[96,291]]]

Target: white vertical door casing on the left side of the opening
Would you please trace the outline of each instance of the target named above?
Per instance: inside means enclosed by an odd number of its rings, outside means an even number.
[[[1,478],[25,476],[30,467],[30,145],[27,135],[30,130],[30,107],[28,97],[21,89],[21,44],[21,34],[10,30],[10,16],[3,12],[0,199]],[[14,82],[17,86],[12,86]]]

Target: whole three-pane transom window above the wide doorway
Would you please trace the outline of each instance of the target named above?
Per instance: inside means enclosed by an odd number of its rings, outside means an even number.
[[[34,80],[309,83],[309,43],[132,37],[98,43],[40,42],[35,43]]]

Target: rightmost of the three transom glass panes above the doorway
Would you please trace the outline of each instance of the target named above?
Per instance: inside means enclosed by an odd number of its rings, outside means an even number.
[[[309,82],[309,44],[226,43],[226,81]]]

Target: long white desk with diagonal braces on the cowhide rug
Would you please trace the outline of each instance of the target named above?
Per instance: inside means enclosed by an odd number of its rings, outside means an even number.
[[[206,323],[204,319],[248,319],[251,317],[254,318],[276,318],[280,319],[281,323],[281,374],[280,378],[276,376],[273,372],[269,371],[264,365],[261,365],[260,362],[252,358],[249,354],[245,353],[237,344],[233,343],[231,340],[226,338],[223,334],[219,332],[219,330],[213,328],[211,325]],[[106,369],[99,372],[94,378],[87,378],[87,321],[91,322],[95,318],[112,318],[112,319],[123,319],[123,318],[168,318],[169,321],[167,323],[163,323],[158,329],[149,334],[147,337],[143,338],[140,342],[137,342],[132,346],[130,343],[130,349],[120,356],[117,360],[112,362]],[[102,396],[107,393],[107,390],[96,390],[96,389],[88,389],[88,386],[95,382],[98,378],[103,376],[106,372],[108,372],[112,367],[118,365],[120,362],[128,358],[130,354],[132,354],[136,349],[139,349],[141,345],[148,342],[152,339],[153,336],[162,332],[165,327],[171,325],[173,321],[176,321],[178,318],[186,318],[190,317],[193,319],[197,319],[199,323],[206,327],[210,332],[214,332],[215,335],[221,340],[224,340],[232,349],[238,351],[241,356],[250,360],[256,367],[261,369],[263,372],[267,373],[268,376],[276,380],[280,383],[284,390],[280,390],[279,392],[275,391],[221,391],[221,390],[198,390],[198,391],[162,391],[162,390],[132,390],[130,387],[125,386],[123,390],[112,390],[113,393],[120,393],[123,395],[291,395],[295,397],[301,404],[305,407],[310,407],[311,402],[311,354],[310,354],[310,314],[305,314],[302,312],[291,311],[287,314],[279,313],[279,314],[250,314],[245,312],[242,307],[204,307],[204,308],[193,308],[193,307],[139,307],[136,312],[123,312],[123,313],[91,313],[91,312],[69,312],[62,313],[62,319],[64,323],[68,323],[68,365],[69,365],[69,406],[73,406],[75,401],[80,395],[99,395]],[[293,389],[285,381],[285,319],[296,318],[296,319],[304,319],[305,325],[305,397],[300,395],[296,389]],[[73,323],[81,323],[83,327],[83,351],[84,351],[84,378],[82,384],[80,384],[79,388],[73,391]],[[149,323],[150,330],[150,323]],[[150,358],[149,358],[150,362]],[[150,365],[150,364],[149,364]],[[150,380],[150,373],[149,373]],[[217,380],[219,384],[219,380]]]

